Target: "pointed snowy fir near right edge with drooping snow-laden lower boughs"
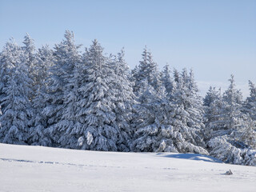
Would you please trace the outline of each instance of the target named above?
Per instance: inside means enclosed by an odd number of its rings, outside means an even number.
[[[255,147],[255,122],[249,115],[242,114],[242,93],[235,88],[233,75],[223,94],[218,122],[222,124],[212,126],[214,129],[208,142],[210,154],[224,162],[253,165],[256,162],[255,152],[251,150]]]

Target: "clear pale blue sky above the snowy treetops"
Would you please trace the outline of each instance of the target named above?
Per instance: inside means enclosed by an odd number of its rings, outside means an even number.
[[[65,30],[84,46],[97,38],[109,54],[125,47],[130,68],[146,45],[160,69],[194,69],[202,94],[225,89],[230,74],[245,95],[256,82],[256,0],[0,0],[1,48],[26,32],[54,46]]]

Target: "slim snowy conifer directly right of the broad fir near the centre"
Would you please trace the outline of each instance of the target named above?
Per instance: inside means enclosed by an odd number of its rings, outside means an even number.
[[[124,60],[124,50],[118,53],[112,60],[114,69],[114,113],[116,123],[120,129],[118,150],[129,151],[129,145],[133,136],[132,120],[134,114],[134,99],[132,84],[129,80],[129,67]]]

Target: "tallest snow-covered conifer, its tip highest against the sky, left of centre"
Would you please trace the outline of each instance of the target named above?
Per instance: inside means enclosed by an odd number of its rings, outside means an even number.
[[[68,126],[73,126],[70,116],[74,116],[75,101],[72,97],[75,88],[70,79],[74,76],[74,67],[80,59],[78,54],[80,46],[74,44],[73,32],[66,30],[64,37],[65,39],[54,47],[54,66],[50,67],[50,77],[46,81],[47,106],[42,111],[42,114],[48,118],[46,133],[50,134],[54,145],[65,140],[59,139]]]

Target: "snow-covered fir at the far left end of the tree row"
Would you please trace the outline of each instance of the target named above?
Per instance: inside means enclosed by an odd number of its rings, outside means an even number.
[[[0,100],[2,106],[0,142],[25,144],[33,114],[29,100],[30,85],[33,80],[28,74],[22,49],[15,42],[9,42],[6,44],[6,50],[12,52],[6,53],[4,60],[11,61],[12,64],[4,65],[10,73],[6,78],[6,84],[2,87],[4,94]]]

